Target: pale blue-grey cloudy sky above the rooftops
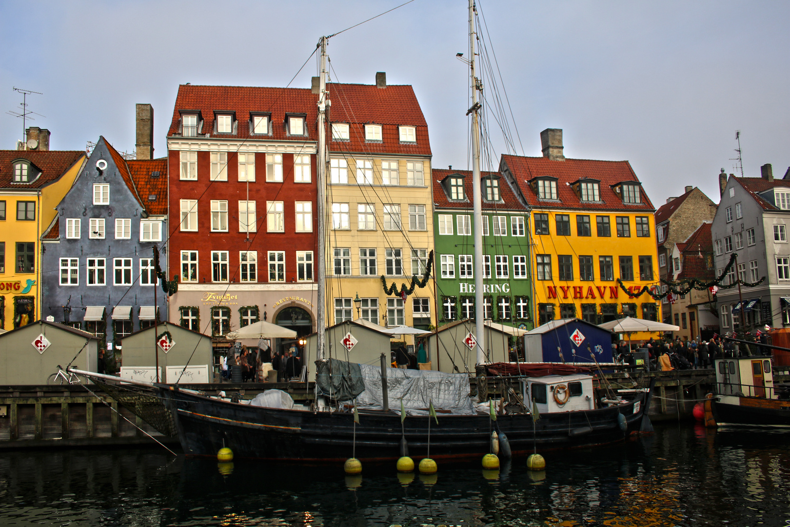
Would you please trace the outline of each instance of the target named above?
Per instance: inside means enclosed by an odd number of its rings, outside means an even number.
[[[164,156],[179,83],[284,86],[318,37],[393,2],[2,2],[0,148],[21,138],[13,86],[43,92],[51,148],[107,137],[134,149],[134,104],[155,111]],[[746,175],[790,165],[790,2],[481,0],[518,134],[564,130],[568,157],[630,160],[653,203],[700,186],[718,200],[742,130]],[[333,81],[414,86],[434,167],[468,163],[465,0],[416,0],[329,41]],[[311,59],[293,83],[308,87]],[[498,134],[492,131],[498,138]],[[501,141],[495,143],[497,155]],[[517,152],[521,153],[521,151]]]

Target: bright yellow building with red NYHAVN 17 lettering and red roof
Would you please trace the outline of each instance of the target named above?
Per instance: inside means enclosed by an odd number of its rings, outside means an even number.
[[[627,161],[566,159],[562,130],[540,134],[543,157],[502,156],[502,175],[530,209],[536,326],[557,318],[600,324],[658,319],[655,209]],[[636,336],[638,338],[639,336]]]

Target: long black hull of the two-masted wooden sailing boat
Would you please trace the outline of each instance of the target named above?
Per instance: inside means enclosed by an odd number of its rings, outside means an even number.
[[[354,425],[352,413],[305,412],[261,408],[219,401],[194,393],[162,389],[161,397],[173,412],[179,440],[187,455],[215,456],[223,446],[235,457],[295,461],[397,459],[401,417],[384,412],[361,412]],[[645,394],[617,407],[544,414],[532,422],[529,414],[498,416],[441,415],[431,421],[430,456],[477,457],[488,454],[491,431],[504,432],[513,455],[540,450],[594,446],[623,440],[641,427]],[[625,417],[626,430],[618,415]],[[408,416],[403,435],[412,457],[427,457],[428,416]]]

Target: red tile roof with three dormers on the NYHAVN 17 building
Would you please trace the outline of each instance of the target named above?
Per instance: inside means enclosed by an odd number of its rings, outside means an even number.
[[[516,179],[527,203],[533,207],[552,209],[593,209],[653,212],[653,203],[644,189],[641,189],[641,203],[623,203],[611,186],[617,183],[639,183],[637,175],[628,161],[601,161],[585,159],[568,159],[564,161],[549,160],[546,157],[526,157],[502,155],[502,168],[507,168]],[[527,181],[539,177],[556,178],[559,202],[538,200],[537,194]],[[581,201],[570,183],[578,179],[589,178],[600,181],[601,203]]]

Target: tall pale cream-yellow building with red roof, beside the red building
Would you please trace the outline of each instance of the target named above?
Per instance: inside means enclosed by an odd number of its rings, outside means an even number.
[[[427,123],[411,86],[376,80],[329,85],[326,323],[427,329],[436,323],[432,280],[399,293],[412,275],[423,278],[434,246]],[[397,293],[386,294],[382,275]]]

